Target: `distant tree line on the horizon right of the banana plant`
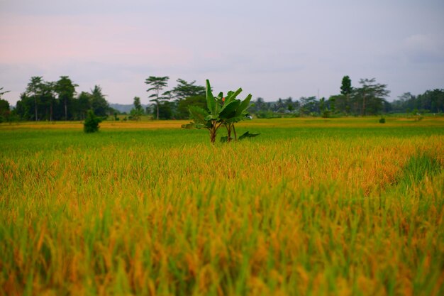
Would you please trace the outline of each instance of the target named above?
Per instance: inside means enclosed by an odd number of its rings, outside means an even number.
[[[250,113],[259,118],[289,116],[366,116],[392,113],[439,114],[444,111],[444,89],[434,89],[414,96],[403,94],[394,102],[387,102],[387,84],[377,83],[374,78],[361,79],[357,87],[352,86],[349,76],[344,76],[340,93],[328,99],[301,97],[294,100],[279,98],[276,102],[265,102],[257,98]]]

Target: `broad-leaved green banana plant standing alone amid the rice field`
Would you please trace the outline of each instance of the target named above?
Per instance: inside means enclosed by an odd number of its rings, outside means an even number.
[[[199,106],[191,106],[189,108],[189,114],[193,119],[190,124],[182,125],[182,128],[206,128],[210,133],[210,141],[214,143],[216,141],[216,133],[218,128],[225,126],[228,136],[223,137],[222,141],[231,141],[231,132],[233,131],[235,140],[238,140],[235,133],[234,124],[241,120],[244,120],[248,116],[248,106],[250,106],[251,94],[241,101],[236,99],[238,94],[242,92],[239,88],[235,92],[228,92],[226,97],[223,97],[223,93],[220,92],[218,96],[214,97],[211,92],[211,85],[209,80],[206,80],[206,105],[209,111],[206,111]],[[247,132],[248,133],[248,132]],[[257,136],[254,133],[248,133],[249,136]]]

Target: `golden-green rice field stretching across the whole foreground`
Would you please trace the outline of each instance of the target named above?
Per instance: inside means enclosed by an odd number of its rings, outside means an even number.
[[[444,295],[444,117],[386,120],[0,124],[0,295]]]

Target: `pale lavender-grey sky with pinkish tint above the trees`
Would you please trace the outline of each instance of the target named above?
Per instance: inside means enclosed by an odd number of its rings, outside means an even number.
[[[145,79],[279,97],[376,78],[391,91],[444,89],[443,0],[0,0],[0,87],[67,75],[111,103],[148,104]],[[242,97],[242,96],[240,96]]]

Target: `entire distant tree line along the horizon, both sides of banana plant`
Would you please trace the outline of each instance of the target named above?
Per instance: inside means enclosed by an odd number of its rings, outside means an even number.
[[[206,108],[206,89],[196,81],[178,79],[175,87],[168,89],[170,77],[150,76],[145,80],[150,106],[143,109],[140,97],[133,98],[133,109],[129,119],[138,120],[143,115],[153,119],[189,119],[189,106]],[[25,92],[20,95],[15,109],[1,99],[7,91],[0,88],[0,122],[84,120],[87,111],[105,119],[118,111],[106,101],[101,87],[95,85],[90,92],[77,94],[77,84],[70,77],[61,76],[56,82],[47,82],[43,77],[31,77]],[[276,102],[265,102],[258,97],[248,111],[259,118],[279,116],[366,116],[387,113],[442,113],[444,111],[444,89],[433,89],[417,96],[406,92],[394,102],[387,102],[387,84],[377,83],[374,78],[361,79],[353,87],[349,76],[340,83],[340,93],[328,99],[301,97],[294,100],[279,98]]]

